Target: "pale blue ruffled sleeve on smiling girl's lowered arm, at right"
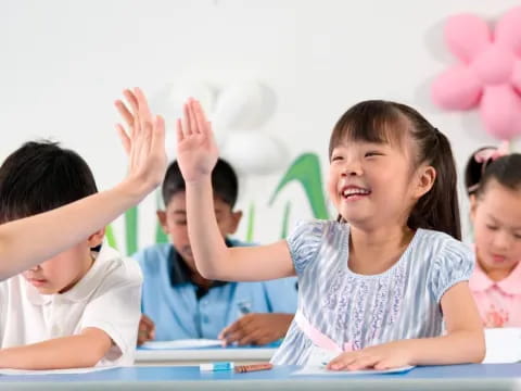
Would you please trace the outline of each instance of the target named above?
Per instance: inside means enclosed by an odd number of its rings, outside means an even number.
[[[474,254],[467,245],[449,239],[440,250],[430,273],[430,287],[436,302],[456,283],[468,281],[474,269]]]

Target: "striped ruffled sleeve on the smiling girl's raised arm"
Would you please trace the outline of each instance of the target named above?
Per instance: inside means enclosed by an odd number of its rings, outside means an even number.
[[[301,275],[306,266],[316,258],[325,224],[323,220],[301,222],[287,239],[297,275]]]

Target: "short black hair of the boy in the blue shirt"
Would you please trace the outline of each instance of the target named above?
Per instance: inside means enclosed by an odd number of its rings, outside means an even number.
[[[217,160],[217,164],[212,172],[212,187],[214,194],[233,209],[239,192],[239,181],[231,165],[223,159]],[[179,169],[179,164],[175,161],[168,166],[163,180],[162,193],[165,206],[168,205],[176,193],[185,191],[185,179]]]

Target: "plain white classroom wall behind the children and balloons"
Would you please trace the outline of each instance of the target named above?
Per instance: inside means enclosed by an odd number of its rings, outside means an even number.
[[[2,0],[0,157],[28,139],[53,137],[77,150],[106,188],[125,173],[112,106],[122,88],[141,86],[154,94],[182,75],[195,75],[217,85],[247,77],[269,86],[278,105],[264,130],[283,140],[291,157],[318,153],[325,173],[334,122],[370,98],[417,108],[449,136],[461,172],[471,151],[495,141],[475,114],[442,112],[429,100],[429,83],[455,61],[443,45],[442,24],[460,12],[493,21],[516,5],[519,1]],[[257,241],[278,238],[284,200],[294,204],[292,222],[310,216],[296,185],[277,205],[265,206],[281,175],[243,181],[241,206],[254,202],[262,212]],[[140,210],[141,245],[152,241],[153,204],[149,199]],[[123,240],[120,224],[116,230]],[[239,237],[244,230],[243,224]]]

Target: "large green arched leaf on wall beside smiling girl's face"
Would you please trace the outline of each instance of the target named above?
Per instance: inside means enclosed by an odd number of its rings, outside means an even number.
[[[288,168],[287,173],[275,189],[269,205],[271,205],[280,191],[290,182],[296,180],[300,182],[306,193],[309,205],[315,218],[329,218],[328,207],[322,190],[322,175],[320,172],[320,161],[315,153],[304,153],[295,159]]]

